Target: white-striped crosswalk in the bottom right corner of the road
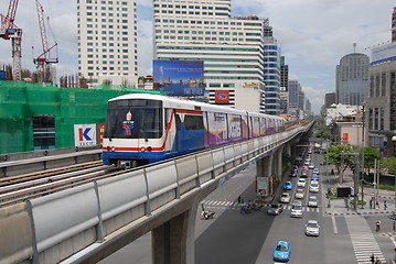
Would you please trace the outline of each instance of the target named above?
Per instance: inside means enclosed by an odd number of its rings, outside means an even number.
[[[386,263],[366,220],[361,216],[349,216],[345,217],[345,221],[350,231],[357,263],[372,263],[370,261],[372,254],[374,254],[375,257],[378,257],[381,263]]]

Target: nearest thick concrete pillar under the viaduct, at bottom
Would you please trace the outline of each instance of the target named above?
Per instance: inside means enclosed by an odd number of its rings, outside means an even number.
[[[153,264],[194,263],[194,228],[196,206],[154,229]]]

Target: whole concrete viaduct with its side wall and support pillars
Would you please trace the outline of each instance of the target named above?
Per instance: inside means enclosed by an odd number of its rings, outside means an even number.
[[[154,264],[193,264],[200,201],[251,163],[281,177],[282,153],[312,124],[1,208],[0,264],[96,263],[149,231]]]

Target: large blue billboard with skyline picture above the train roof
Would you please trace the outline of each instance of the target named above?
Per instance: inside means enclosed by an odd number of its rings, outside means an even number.
[[[156,90],[168,96],[204,96],[202,61],[153,61],[152,68]]]

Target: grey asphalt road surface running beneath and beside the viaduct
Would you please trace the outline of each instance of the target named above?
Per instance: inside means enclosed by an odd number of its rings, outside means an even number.
[[[313,155],[312,161],[319,164],[320,158],[320,155]],[[319,208],[304,206],[301,219],[290,217],[290,205],[285,205],[280,216],[268,216],[266,208],[251,213],[239,213],[237,197],[242,195],[245,201],[254,198],[255,169],[255,166],[246,168],[203,201],[205,209],[213,210],[216,215],[215,219],[202,220],[197,213],[195,264],[274,263],[272,248],[278,240],[291,242],[290,263],[370,263],[370,252],[375,252],[382,260],[393,257],[395,245],[393,238],[388,235],[392,232],[392,221],[386,215],[338,217],[324,212],[327,201],[323,194],[328,188],[325,176],[320,176],[321,191],[317,195],[320,201]],[[286,178],[295,184],[290,191],[292,197],[297,178]],[[303,205],[307,205],[308,189],[307,185]],[[278,191],[278,195],[281,191]],[[383,220],[381,232],[374,230],[377,218]],[[319,221],[320,237],[304,235],[304,223],[309,219]],[[151,263],[150,234],[100,263]]]

